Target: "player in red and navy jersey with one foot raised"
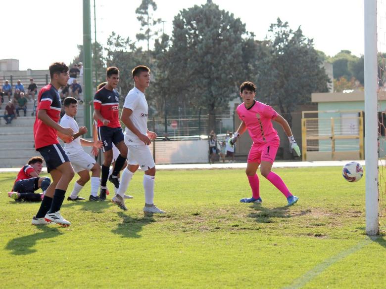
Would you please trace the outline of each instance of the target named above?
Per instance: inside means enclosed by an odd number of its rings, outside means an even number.
[[[119,70],[108,67],[106,85],[100,88],[94,96],[94,119],[97,121],[98,138],[103,142],[103,164],[101,167],[100,200],[106,200],[107,178],[116,189],[119,188],[118,173],[125,164],[127,147],[123,141],[123,131],[119,123],[119,94],[115,90],[119,83]],[[115,161],[112,174],[108,177],[113,159],[112,144],[118,148],[120,154]]]

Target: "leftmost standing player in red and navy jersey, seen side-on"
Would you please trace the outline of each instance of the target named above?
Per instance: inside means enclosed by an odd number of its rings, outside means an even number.
[[[50,222],[61,226],[71,223],[60,214],[68,184],[74,177],[74,169],[68,156],[59,144],[59,136],[64,142],[71,142],[76,135],[69,127],[58,124],[61,101],[58,89],[66,86],[69,79],[68,67],[63,62],[55,62],[49,66],[51,82],[39,91],[38,108],[34,124],[35,148],[43,156],[47,171],[52,177],[43,202],[32,224],[45,225]]]

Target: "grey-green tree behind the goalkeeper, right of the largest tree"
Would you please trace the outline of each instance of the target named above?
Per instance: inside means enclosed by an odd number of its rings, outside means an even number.
[[[289,124],[298,103],[309,103],[312,92],[327,92],[329,78],[322,57],[300,27],[293,31],[278,18],[271,24],[269,42],[262,46],[257,62],[257,92],[260,99],[277,104]]]

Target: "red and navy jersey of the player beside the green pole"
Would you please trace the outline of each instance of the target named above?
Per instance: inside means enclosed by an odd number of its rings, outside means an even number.
[[[100,88],[94,96],[94,109],[100,111],[102,117],[109,120],[109,127],[121,127],[119,123],[119,94],[113,90],[108,90],[105,87]],[[103,126],[103,123],[98,120],[98,127]]]

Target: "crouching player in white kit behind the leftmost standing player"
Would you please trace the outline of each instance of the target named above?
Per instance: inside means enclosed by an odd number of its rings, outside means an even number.
[[[85,126],[79,127],[74,119],[78,109],[78,101],[75,98],[66,97],[63,101],[63,105],[66,114],[61,118],[60,124],[65,127],[71,127],[75,132],[74,140],[70,143],[64,144],[64,151],[69,157],[74,171],[80,176],[80,178],[75,182],[74,189],[67,200],[85,200],[78,195],[83,186],[90,180],[89,171],[91,171],[91,193],[89,201],[101,201],[98,197],[98,189],[100,186],[100,165],[97,164],[92,156],[83,150],[82,146],[92,146],[94,149],[99,149],[102,147],[102,142],[98,140],[93,142],[80,137],[87,132],[87,128]]]

